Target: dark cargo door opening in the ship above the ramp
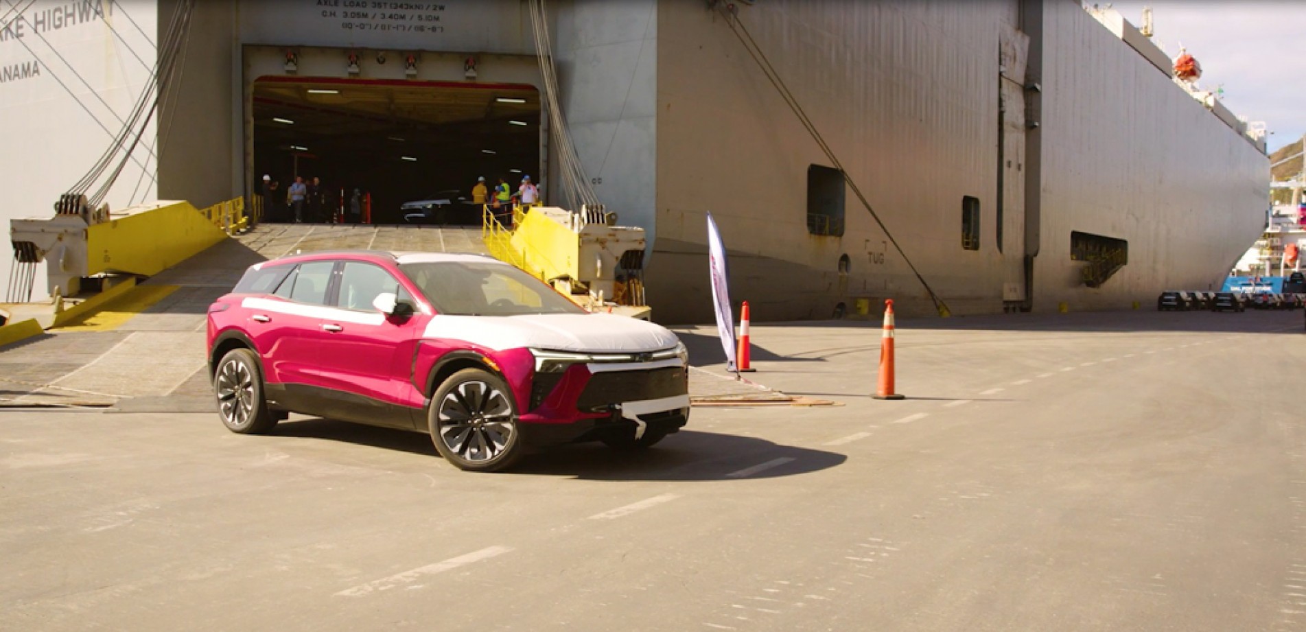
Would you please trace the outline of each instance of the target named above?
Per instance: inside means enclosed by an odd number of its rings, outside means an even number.
[[[251,185],[277,183],[265,221],[295,221],[296,176],[324,202],[300,219],[354,221],[354,191],[376,225],[478,225],[473,187],[541,180],[539,93],[524,84],[265,76],[252,85]],[[364,202],[366,205],[366,202]],[[343,213],[341,213],[343,209]],[[363,215],[368,209],[363,209]]]

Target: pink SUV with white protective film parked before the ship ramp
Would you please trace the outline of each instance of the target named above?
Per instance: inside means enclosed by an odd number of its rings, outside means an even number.
[[[465,470],[502,470],[533,445],[646,448],[690,417],[675,334],[589,313],[477,255],[256,264],[209,307],[208,350],[232,432],[268,432],[290,413],[430,432]]]

